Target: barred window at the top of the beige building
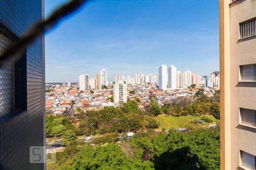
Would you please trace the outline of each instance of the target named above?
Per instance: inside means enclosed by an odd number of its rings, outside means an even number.
[[[255,27],[256,27],[256,18],[240,23],[239,24],[240,39],[255,36],[256,35]]]

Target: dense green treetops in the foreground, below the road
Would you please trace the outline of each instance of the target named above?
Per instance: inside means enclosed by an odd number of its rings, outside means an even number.
[[[111,142],[110,142],[111,143]],[[218,128],[186,133],[138,133],[129,142],[68,147],[55,169],[220,169]]]

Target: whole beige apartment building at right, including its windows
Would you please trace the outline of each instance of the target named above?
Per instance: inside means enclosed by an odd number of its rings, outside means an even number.
[[[221,169],[255,169],[256,1],[220,1]]]

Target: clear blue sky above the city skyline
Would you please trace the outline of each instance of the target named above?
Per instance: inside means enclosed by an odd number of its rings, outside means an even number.
[[[64,0],[45,0],[48,16]],[[108,70],[156,74],[161,64],[200,75],[219,70],[218,1],[94,0],[46,35],[46,82]]]

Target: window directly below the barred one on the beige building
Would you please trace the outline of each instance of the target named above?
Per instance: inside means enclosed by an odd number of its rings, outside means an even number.
[[[256,82],[256,65],[240,66],[242,82]]]

